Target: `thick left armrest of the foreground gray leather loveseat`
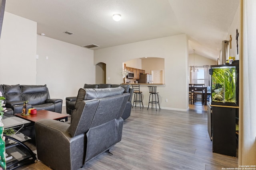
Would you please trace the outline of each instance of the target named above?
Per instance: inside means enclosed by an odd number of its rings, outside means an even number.
[[[52,119],[35,122],[38,159],[52,169],[78,169],[84,164],[84,133],[71,137],[69,127]]]

